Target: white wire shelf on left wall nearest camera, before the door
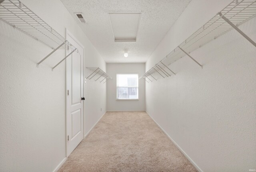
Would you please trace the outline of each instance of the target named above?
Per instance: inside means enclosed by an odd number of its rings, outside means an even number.
[[[50,54],[36,64],[37,67],[58,49],[69,50],[70,48],[72,51],[58,62],[52,71],[73,52],[78,53],[76,47],[19,0],[0,0],[0,19],[53,49]]]

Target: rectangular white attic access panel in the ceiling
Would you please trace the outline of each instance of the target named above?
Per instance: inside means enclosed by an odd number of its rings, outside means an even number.
[[[115,42],[136,42],[141,13],[108,13]]]

